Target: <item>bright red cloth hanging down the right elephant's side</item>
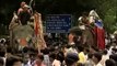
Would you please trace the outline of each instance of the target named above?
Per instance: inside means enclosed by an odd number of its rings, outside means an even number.
[[[95,35],[96,35],[96,44],[100,50],[105,48],[105,31],[104,29],[100,29],[95,26],[94,29]]]

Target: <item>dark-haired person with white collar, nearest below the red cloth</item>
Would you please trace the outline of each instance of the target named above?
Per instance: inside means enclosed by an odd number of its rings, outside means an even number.
[[[94,66],[103,66],[100,62],[102,59],[102,54],[96,52],[93,54],[93,57],[92,57],[93,62],[94,62]]]

